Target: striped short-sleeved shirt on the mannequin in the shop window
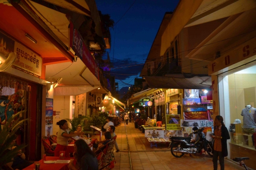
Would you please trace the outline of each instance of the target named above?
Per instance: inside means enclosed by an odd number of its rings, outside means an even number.
[[[253,115],[256,113],[256,108],[244,108],[241,112],[243,116],[243,128],[256,128]]]

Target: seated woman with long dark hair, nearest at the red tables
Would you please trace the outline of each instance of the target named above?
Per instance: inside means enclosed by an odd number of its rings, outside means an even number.
[[[70,161],[69,168],[71,170],[77,170],[76,167],[79,167],[79,170],[99,170],[95,153],[83,139],[79,139],[75,142],[74,156],[78,166],[74,165],[73,162]]]

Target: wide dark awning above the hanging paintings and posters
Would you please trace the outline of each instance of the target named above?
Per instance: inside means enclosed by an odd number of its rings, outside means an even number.
[[[150,88],[208,89],[212,79],[207,75],[166,74],[165,77],[145,76]]]

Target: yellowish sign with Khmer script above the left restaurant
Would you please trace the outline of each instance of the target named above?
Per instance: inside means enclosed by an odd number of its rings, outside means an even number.
[[[17,58],[13,65],[22,68],[24,71],[29,71],[30,73],[41,76],[42,58],[1,32],[0,52],[3,54],[15,52]]]

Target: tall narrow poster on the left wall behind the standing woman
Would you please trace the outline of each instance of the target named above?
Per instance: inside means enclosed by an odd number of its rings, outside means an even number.
[[[45,136],[49,137],[53,134],[53,99],[46,98],[45,111]]]

